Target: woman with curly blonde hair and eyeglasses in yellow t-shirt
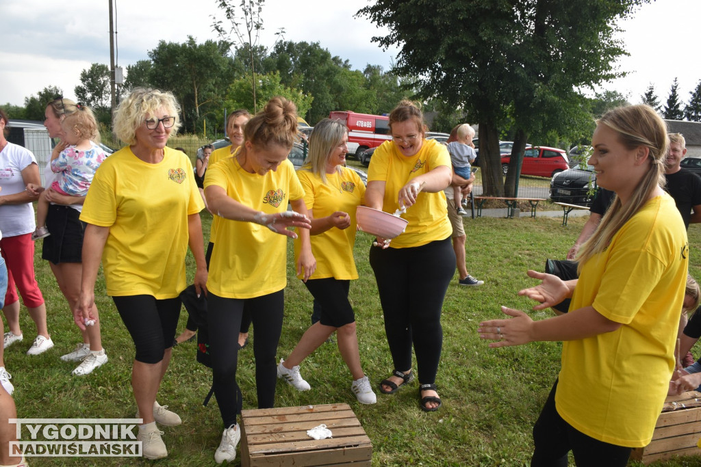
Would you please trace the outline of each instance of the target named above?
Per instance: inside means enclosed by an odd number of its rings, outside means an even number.
[[[144,419],[137,439],[147,459],[168,455],[156,422],[181,423],[156,402],[156,394],[170,362],[188,246],[196,261],[196,291],[206,293],[199,215],[204,203],[189,158],[165,146],[180,127],[178,113],[170,92],[137,88],[122,100],[114,132],[129,146],[102,162],[81,214],[88,227],[79,311],[89,326],[102,260],[107,294],[136,349],[132,390],[137,417]]]

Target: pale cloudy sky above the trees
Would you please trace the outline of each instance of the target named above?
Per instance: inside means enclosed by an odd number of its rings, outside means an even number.
[[[353,69],[379,64],[387,70],[396,61],[398,49],[382,50],[372,42],[372,36],[386,31],[367,18],[355,18],[369,1],[267,0],[259,43],[272,46],[275,33],[285,28],[285,40],[318,41],[332,55],[348,60]],[[188,35],[200,43],[216,40],[212,16],[224,19],[217,3],[116,0],[117,64],[125,69],[137,60],[148,59],[148,51],[161,40],[182,43]],[[238,0],[232,3],[238,4]],[[653,84],[664,104],[676,77],[680,99],[688,101],[689,92],[701,81],[701,60],[696,60],[693,46],[699,18],[700,0],[657,0],[639,8],[620,23],[624,30],[620,39],[630,57],[622,57],[618,69],[627,71],[628,76],[599,90],[618,91],[636,104]],[[4,36],[0,104],[23,105],[25,97],[48,85],[56,85],[65,97],[74,98],[83,69],[93,62],[109,65],[109,0],[1,0],[0,30]]]

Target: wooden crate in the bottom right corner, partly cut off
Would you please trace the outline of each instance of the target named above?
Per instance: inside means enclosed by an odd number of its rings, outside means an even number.
[[[633,449],[630,459],[651,463],[674,456],[701,454],[701,393],[688,391],[669,396],[655,424],[653,440],[646,447]]]

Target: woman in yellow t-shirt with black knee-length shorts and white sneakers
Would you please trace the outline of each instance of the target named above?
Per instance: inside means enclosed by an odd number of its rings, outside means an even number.
[[[375,393],[360,367],[355,314],[348,301],[351,279],[358,279],[353,260],[355,209],[365,199],[358,174],[343,167],[348,152],[348,128],[339,120],[321,120],[309,139],[309,155],[297,176],[304,187],[304,203],[311,210],[311,249],[317,268],[304,284],[322,308],[321,320],[306,330],[278,377],[299,391],[311,386],[299,375],[299,364],[338,330],[339,351],[353,376],[351,391],[363,404],[374,404]],[[301,252],[299,241],[294,253]]]

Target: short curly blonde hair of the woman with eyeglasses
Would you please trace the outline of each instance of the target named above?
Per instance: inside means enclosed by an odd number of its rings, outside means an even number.
[[[175,136],[180,125],[180,106],[175,96],[170,92],[157,89],[135,88],[122,99],[114,113],[114,134],[127,144],[136,144],[136,130],[144,123],[146,116],[154,116],[164,109],[175,123],[170,130],[170,136]]]

